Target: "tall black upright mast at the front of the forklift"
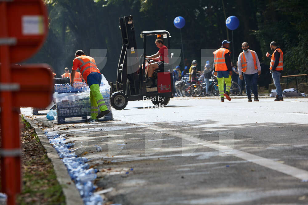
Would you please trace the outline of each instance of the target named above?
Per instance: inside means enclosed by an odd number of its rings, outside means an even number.
[[[122,50],[118,63],[117,81],[111,90],[122,90],[126,95],[139,94],[139,60],[137,54],[133,16],[119,18],[122,34]],[[114,88],[114,89],[113,89]]]

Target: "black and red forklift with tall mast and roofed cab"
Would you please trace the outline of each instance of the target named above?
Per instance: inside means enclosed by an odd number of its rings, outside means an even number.
[[[122,110],[127,106],[128,101],[134,100],[152,100],[155,107],[167,105],[169,99],[173,98],[172,64],[164,64],[163,69],[155,70],[154,85],[146,86],[146,69],[152,60],[145,56],[149,36],[160,35],[169,52],[171,37],[169,32],[166,30],[141,32],[144,52],[141,57],[138,57],[133,16],[124,16],[119,20],[123,46],[117,68],[117,80],[110,82],[111,106],[116,110]],[[168,53],[169,62],[171,57],[172,54]]]

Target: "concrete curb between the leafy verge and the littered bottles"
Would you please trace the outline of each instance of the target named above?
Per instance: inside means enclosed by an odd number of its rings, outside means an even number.
[[[62,191],[65,195],[65,203],[67,205],[78,205],[83,204],[83,200],[75,186],[75,183],[71,180],[71,177],[68,175],[67,169],[63,162],[59,159],[58,153],[55,151],[55,149],[51,146],[49,141],[47,140],[46,135],[44,134],[43,130],[37,126],[36,120],[32,120],[27,118],[26,116],[23,116],[24,119],[32,127],[34,127],[36,134],[39,137],[39,140],[41,141],[42,145],[47,151],[47,157],[51,160],[55,173],[57,175],[57,180],[59,184],[62,187]]]

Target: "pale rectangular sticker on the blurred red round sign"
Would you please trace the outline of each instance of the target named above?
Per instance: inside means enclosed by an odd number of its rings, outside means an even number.
[[[23,35],[44,34],[44,17],[41,15],[22,16],[22,34]]]

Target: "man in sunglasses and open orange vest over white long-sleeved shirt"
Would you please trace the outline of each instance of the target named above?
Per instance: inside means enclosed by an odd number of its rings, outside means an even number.
[[[261,66],[258,55],[255,51],[249,49],[247,42],[242,43],[243,52],[238,55],[238,73],[240,74],[240,79],[243,80],[243,75],[246,84],[246,93],[248,102],[252,102],[251,99],[251,86],[253,87],[254,100],[258,99],[258,76],[261,74]],[[243,71],[243,74],[242,74]]]

